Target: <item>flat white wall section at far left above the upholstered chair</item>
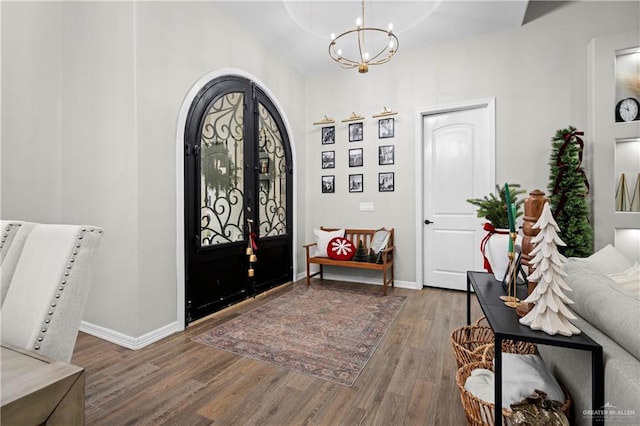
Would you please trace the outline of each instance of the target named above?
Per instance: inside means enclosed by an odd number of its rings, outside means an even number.
[[[61,8],[15,6],[0,2],[2,218],[56,222],[62,218]]]

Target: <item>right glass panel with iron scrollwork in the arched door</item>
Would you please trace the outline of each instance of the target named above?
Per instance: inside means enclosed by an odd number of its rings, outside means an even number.
[[[260,237],[287,233],[287,162],[282,136],[271,113],[258,106],[258,232]]]

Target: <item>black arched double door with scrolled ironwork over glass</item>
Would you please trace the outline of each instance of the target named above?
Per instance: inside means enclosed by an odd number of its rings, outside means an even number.
[[[291,281],[293,182],[282,118],[242,77],[212,80],[195,97],[184,160],[189,323]]]

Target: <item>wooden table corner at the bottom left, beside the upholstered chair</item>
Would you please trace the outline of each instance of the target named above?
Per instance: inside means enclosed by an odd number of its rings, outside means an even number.
[[[84,369],[2,343],[6,425],[83,425]]]

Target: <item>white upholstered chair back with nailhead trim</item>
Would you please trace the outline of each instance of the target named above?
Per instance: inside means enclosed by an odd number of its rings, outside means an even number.
[[[102,229],[2,221],[2,342],[71,360]]]

